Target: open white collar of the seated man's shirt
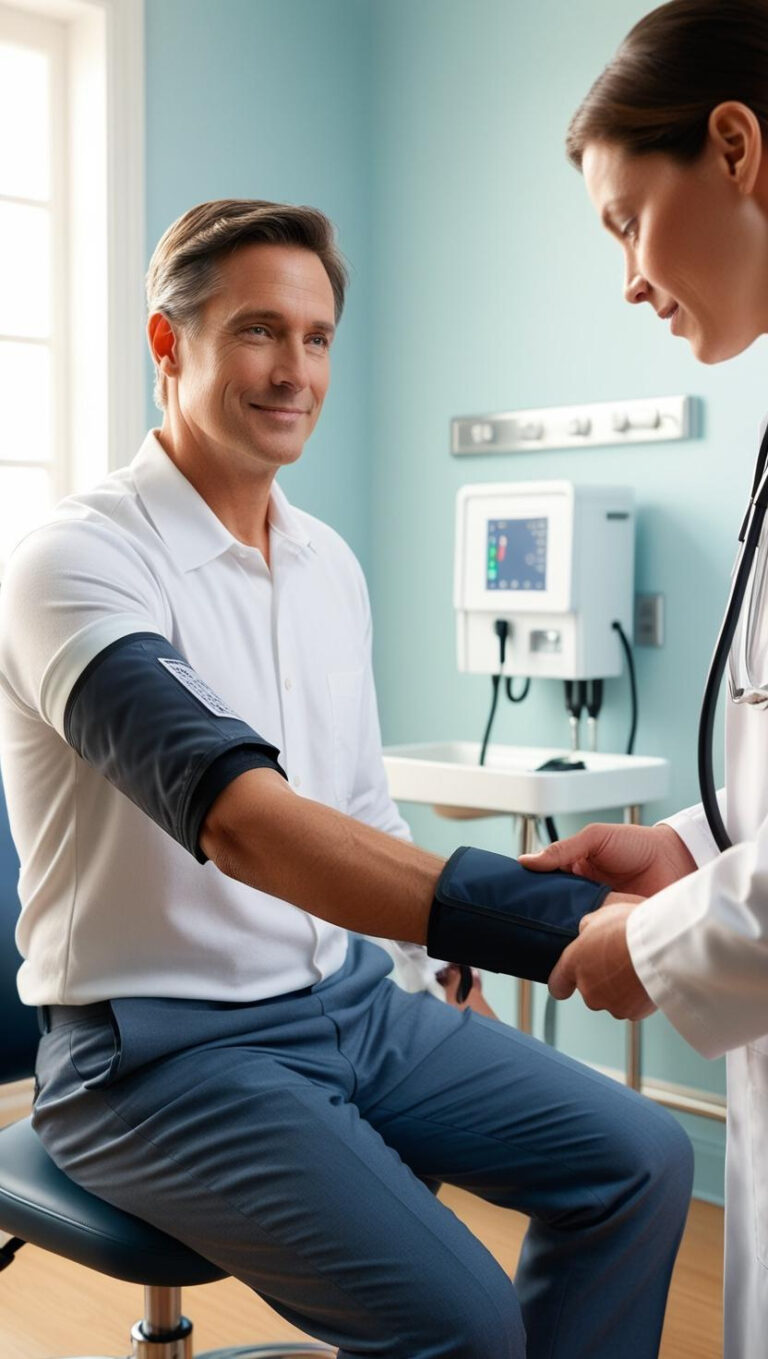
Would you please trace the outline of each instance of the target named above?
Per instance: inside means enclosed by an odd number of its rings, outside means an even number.
[[[242,546],[169,458],[155,429],[147,434],[130,470],[152,523],[182,571],[194,571]],[[269,495],[269,527],[295,550],[314,550],[299,515],[276,482]]]

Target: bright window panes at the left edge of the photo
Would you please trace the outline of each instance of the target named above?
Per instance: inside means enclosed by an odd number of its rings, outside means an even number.
[[[65,493],[64,31],[0,10],[0,569]]]

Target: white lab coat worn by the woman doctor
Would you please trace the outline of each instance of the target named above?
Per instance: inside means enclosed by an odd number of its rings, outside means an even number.
[[[768,552],[761,541],[757,571]],[[768,629],[768,618],[761,624]],[[741,632],[741,629],[739,629]],[[738,639],[737,639],[738,640]],[[768,1354],[768,707],[726,708],[733,848],[701,806],[669,818],[699,864],[629,919],[643,985],[707,1057],[727,1053],[725,1359]]]

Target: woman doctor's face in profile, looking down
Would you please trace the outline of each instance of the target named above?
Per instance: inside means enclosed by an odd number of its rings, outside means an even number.
[[[583,175],[624,250],[624,296],[647,302],[703,363],[746,349],[768,329],[768,230],[711,143],[692,163],[591,141]]]

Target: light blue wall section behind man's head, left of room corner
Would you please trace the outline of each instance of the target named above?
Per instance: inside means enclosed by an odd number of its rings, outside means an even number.
[[[367,0],[145,0],[147,250],[208,198],[307,202],[351,264],[334,376],[296,504],[368,564],[370,14]],[[160,423],[151,401],[147,420]]]

